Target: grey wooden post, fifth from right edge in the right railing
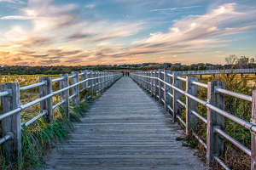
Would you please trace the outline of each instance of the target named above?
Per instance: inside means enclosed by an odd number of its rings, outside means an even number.
[[[167,76],[167,74],[171,74],[171,71],[166,71],[165,70],[165,75],[164,75],[164,81],[168,82],[169,84],[172,84],[172,77]],[[165,111],[168,111],[168,105],[172,105],[172,97],[168,95],[167,93],[169,92],[172,94],[172,88],[170,86],[167,86],[166,83],[164,84],[165,88]]]

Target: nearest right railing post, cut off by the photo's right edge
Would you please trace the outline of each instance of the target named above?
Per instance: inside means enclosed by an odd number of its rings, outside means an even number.
[[[252,102],[252,119],[251,122],[256,124],[256,90],[253,90]],[[251,170],[256,170],[256,134],[251,133]]]

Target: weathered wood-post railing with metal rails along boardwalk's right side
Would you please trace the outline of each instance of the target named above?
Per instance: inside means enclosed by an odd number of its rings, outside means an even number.
[[[191,130],[201,144],[207,149],[207,163],[209,166],[218,161],[225,169],[227,167],[219,156],[224,153],[224,138],[230,140],[239,149],[243,150],[248,156],[251,156],[251,169],[256,169],[256,90],[253,91],[253,97],[245,94],[238,94],[225,89],[225,83],[221,81],[212,81],[208,84],[198,82],[197,76],[182,77],[181,71],[138,71],[131,73],[131,78],[145,88],[148,93],[154,96],[165,106],[166,111],[172,112],[173,122],[177,119],[186,127],[186,133]],[[186,91],[182,90],[182,81],[186,82]],[[197,97],[198,86],[207,88],[207,101]],[[224,94],[236,98],[245,99],[252,103],[252,119],[246,122],[239,117],[233,116],[224,111]],[[186,97],[186,104],[182,97]],[[207,118],[198,114],[198,103],[207,107]],[[182,107],[186,108],[186,121],[181,119]],[[239,143],[236,139],[230,137],[224,132],[224,117],[246,127],[251,131],[251,150]],[[207,123],[207,144],[195,133],[197,120]]]

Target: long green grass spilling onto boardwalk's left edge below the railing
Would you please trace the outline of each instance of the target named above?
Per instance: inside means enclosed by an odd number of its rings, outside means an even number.
[[[67,118],[62,106],[56,108],[52,124],[44,122],[44,118],[38,119],[28,127],[22,127],[22,159],[15,164],[9,164],[7,158],[1,153],[1,169],[30,169],[34,167],[44,168],[45,151],[49,150],[56,142],[65,142],[68,132],[73,130],[73,122],[81,122],[86,116],[90,106],[81,102],[76,106],[70,106],[70,120]],[[9,166],[7,166],[9,165]]]

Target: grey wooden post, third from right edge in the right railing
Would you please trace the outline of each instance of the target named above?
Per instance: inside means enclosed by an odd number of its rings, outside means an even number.
[[[186,77],[186,92],[188,94],[191,94],[195,97],[197,97],[198,94],[198,86],[195,84],[192,84],[192,82],[198,82],[198,77],[196,76],[189,76]],[[190,99],[188,96],[186,96],[186,134],[189,135],[189,130],[192,128],[192,130],[195,132],[195,127],[197,124],[197,116],[195,116],[191,111],[197,112],[197,101],[194,99]]]

